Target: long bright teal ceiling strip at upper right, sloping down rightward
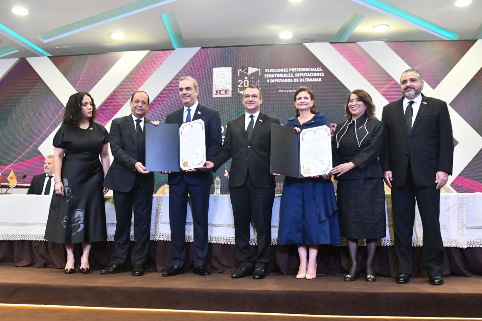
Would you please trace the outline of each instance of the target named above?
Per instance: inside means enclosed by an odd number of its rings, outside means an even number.
[[[432,35],[435,35],[442,39],[458,39],[459,35],[451,30],[445,29],[442,26],[431,23],[415,14],[409,13],[403,9],[392,6],[380,0],[351,0],[359,3],[367,8],[373,9],[379,13],[383,13],[394,17],[400,21],[406,22],[412,26],[415,26],[421,30],[427,31]]]

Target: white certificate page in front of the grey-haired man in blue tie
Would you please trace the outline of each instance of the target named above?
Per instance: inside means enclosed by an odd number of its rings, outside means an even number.
[[[204,121],[197,119],[179,127],[179,166],[182,170],[194,169],[206,163]]]

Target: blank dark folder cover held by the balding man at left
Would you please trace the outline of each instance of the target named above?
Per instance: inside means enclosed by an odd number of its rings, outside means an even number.
[[[149,172],[178,172],[179,125],[144,124],[146,127],[146,170]]]

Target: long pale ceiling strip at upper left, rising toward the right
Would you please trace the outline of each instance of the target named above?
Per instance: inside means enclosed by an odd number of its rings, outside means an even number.
[[[93,17],[74,22],[73,24],[63,26],[52,31],[46,32],[37,38],[43,42],[49,42],[55,39],[64,38],[73,35],[83,30],[100,26],[120,18],[124,18],[135,13],[140,13],[152,8],[159,7],[166,3],[171,3],[176,0],[140,0],[123,7],[94,15]]]

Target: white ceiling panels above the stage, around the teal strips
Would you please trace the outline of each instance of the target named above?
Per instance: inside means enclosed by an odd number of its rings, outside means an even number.
[[[440,40],[351,0],[304,0],[299,3],[288,0],[175,0],[47,43],[37,38],[56,28],[134,2],[136,0],[0,0],[0,24],[52,55],[62,55],[56,49],[61,46],[74,51],[69,55],[172,49],[161,19],[161,14],[167,12],[174,12],[187,47],[300,43],[305,37],[311,37],[315,42],[332,41],[352,13],[364,18],[347,41]],[[454,31],[460,35],[459,39],[473,39],[482,22],[481,0],[474,0],[464,8],[456,8],[455,0],[384,2]],[[10,10],[13,6],[23,6],[30,14],[15,15]],[[375,33],[371,28],[378,24],[387,24],[390,28]],[[289,40],[278,38],[283,30],[290,30],[294,37]],[[110,38],[109,34],[114,31],[123,32],[126,38]],[[37,55],[4,32],[0,32],[0,40],[0,49],[12,46],[19,51],[4,58]]]

